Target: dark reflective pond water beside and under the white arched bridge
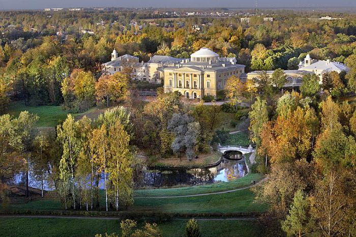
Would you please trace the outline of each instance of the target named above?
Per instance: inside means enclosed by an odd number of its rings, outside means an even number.
[[[245,160],[240,152],[228,152],[221,162],[210,168],[146,170],[143,186],[173,187],[229,182],[247,174]]]

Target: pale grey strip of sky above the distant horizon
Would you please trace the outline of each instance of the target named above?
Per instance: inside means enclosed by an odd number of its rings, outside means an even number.
[[[0,10],[72,7],[254,8],[255,0],[0,0]],[[260,8],[356,8],[356,0],[258,0]]]

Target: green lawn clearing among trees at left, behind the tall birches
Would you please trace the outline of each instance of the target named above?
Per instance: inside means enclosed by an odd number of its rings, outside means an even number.
[[[37,127],[55,127],[58,122],[66,119],[68,110],[64,110],[62,106],[43,105],[43,106],[26,106],[22,101],[11,102],[9,104],[9,114],[18,116],[21,111],[28,111],[39,116]],[[96,119],[105,109],[97,109],[93,107],[83,113],[73,114],[77,119],[86,115],[90,119]]]

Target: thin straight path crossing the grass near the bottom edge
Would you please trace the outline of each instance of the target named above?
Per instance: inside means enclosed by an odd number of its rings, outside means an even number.
[[[83,217],[83,216],[26,216],[26,215],[0,215],[0,218],[56,218],[56,219],[96,219],[96,220],[122,220],[122,217]],[[173,220],[189,220],[191,218],[173,218]],[[234,218],[194,218],[198,221],[224,221],[224,220],[254,220],[256,217]]]

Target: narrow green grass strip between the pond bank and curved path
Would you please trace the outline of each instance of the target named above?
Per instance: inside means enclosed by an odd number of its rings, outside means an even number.
[[[170,189],[138,189],[135,190],[135,197],[153,197],[153,196],[179,196],[193,195],[199,193],[214,193],[226,190],[238,189],[251,185],[251,181],[260,181],[263,175],[260,173],[248,173],[246,176],[236,179],[231,182],[220,182],[209,185],[198,185],[182,188]]]

